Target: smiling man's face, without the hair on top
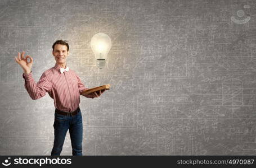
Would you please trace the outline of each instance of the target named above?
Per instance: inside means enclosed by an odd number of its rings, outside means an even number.
[[[54,46],[54,50],[52,51],[52,55],[54,56],[57,64],[66,63],[66,58],[69,55],[66,45],[56,44]]]

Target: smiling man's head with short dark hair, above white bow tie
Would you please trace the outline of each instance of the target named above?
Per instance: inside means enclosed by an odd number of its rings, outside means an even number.
[[[69,44],[68,41],[57,40],[52,45],[52,55],[55,57],[57,64],[65,64],[66,57],[69,55]]]

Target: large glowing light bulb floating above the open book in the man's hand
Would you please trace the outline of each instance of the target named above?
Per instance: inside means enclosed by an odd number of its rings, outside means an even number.
[[[95,54],[97,67],[102,69],[106,66],[107,54],[111,48],[111,39],[108,35],[100,32],[91,39],[91,48]]]

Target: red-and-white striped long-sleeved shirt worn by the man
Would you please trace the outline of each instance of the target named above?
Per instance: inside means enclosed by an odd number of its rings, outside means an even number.
[[[46,92],[54,99],[55,108],[65,111],[75,111],[80,104],[80,95],[86,88],[75,71],[60,72],[60,66],[43,72],[39,82],[35,83],[32,72],[24,74],[25,88],[29,96],[35,100],[46,95]]]

